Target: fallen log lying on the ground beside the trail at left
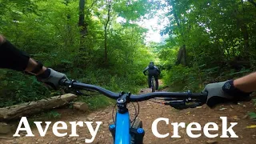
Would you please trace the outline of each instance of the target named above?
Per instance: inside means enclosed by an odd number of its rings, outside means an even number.
[[[19,105],[0,108],[0,120],[8,121],[10,119],[21,118],[41,112],[42,110],[50,110],[59,106],[64,106],[70,101],[77,98],[74,94],[64,94],[61,96],[55,96],[48,99],[42,99],[37,102],[26,102]]]

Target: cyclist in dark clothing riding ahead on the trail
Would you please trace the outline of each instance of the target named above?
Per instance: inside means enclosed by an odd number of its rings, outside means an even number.
[[[156,90],[158,90],[158,75],[161,74],[161,71],[158,69],[157,66],[154,66],[154,62],[150,62],[149,66],[146,66],[146,69],[143,70],[144,75],[146,75],[146,71],[148,71],[147,81],[149,84],[149,88],[151,87],[151,78],[154,76],[155,87],[156,87]]]

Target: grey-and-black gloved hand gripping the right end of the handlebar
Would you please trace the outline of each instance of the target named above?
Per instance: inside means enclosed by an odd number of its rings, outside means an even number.
[[[250,101],[250,94],[238,90],[234,87],[233,80],[226,82],[216,82],[206,85],[203,92],[207,92],[206,104],[213,107],[219,103],[225,102],[248,102]]]

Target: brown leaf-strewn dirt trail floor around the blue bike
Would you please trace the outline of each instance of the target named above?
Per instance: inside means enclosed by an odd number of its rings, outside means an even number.
[[[164,91],[164,90],[162,90]],[[150,89],[140,90],[140,94],[150,93]],[[248,129],[246,126],[255,125],[255,122],[251,121],[247,117],[249,111],[254,111],[255,107],[253,102],[242,102],[239,105],[222,105],[217,106],[214,109],[210,109],[208,106],[204,105],[194,109],[186,110],[175,110],[170,106],[164,106],[155,102],[139,102],[140,113],[138,117],[142,119],[143,128],[146,130],[144,137],[145,144],[181,144],[181,143],[218,143],[218,144],[255,144],[256,143],[256,128]],[[134,114],[134,106],[129,104],[130,115]],[[98,134],[94,139],[94,142],[97,144],[111,144],[113,143],[111,134],[108,130],[109,123],[112,121],[112,110],[113,106],[109,106],[104,110],[98,110],[91,113],[82,113],[78,110],[72,109],[58,109],[58,113],[62,114],[62,117],[56,121],[64,121],[67,124],[69,122],[78,122],[78,121],[94,121],[94,122],[103,122],[98,130]],[[222,119],[220,117],[227,117],[228,127],[230,122],[238,122],[238,125],[234,126],[234,132],[238,135],[239,138],[219,138],[222,135]],[[158,123],[158,132],[160,134],[170,133],[170,136],[167,138],[157,138],[154,136],[151,130],[152,123],[156,118],[169,118],[171,122],[185,122],[186,125],[190,122],[198,122],[203,127],[207,122],[215,122],[218,124],[218,133],[217,138],[206,138],[202,130],[193,132],[194,134],[202,134],[199,138],[190,138],[186,134],[186,129],[179,128],[179,134],[181,138],[170,138],[173,135],[173,126],[166,125],[165,122]],[[47,121],[47,119],[45,119]],[[48,120],[49,121],[49,120]],[[52,121],[52,120],[51,120]],[[95,128],[95,125],[93,125]],[[1,139],[0,143],[48,143],[48,144],[62,144],[62,143],[85,143],[85,138],[91,138],[90,132],[86,126],[79,127],[77,126],[77,133],[79,137],[56,137],[52,132],[52,127],[46,132],[45,137],[38,136],[38,130],[36,127],[32,129],[35,137],[25,137],[25,134],[22,134],[23,137],[20,138],[10,138],[10,139]],[[59,130],[59,132],[67,132],[68,135],[71,132],[70,126],[68,125],[68,130]],[[216,131],[210,132],[210,134],[216,134]]]

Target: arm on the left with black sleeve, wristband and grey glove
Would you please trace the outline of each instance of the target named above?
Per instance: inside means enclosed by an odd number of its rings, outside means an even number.
[[[42,63],[34,61],[25,52],[18,50],[6,38],[0,34],[0,68],[10,70],[26,71],[36,75],[40,82],[58,88],[58,82],[66,78],[65,74],[42,66]]]

